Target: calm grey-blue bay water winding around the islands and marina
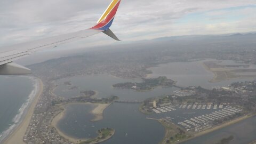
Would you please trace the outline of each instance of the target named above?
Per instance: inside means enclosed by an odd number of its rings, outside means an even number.
[[[227,81],[222,81],[218,83],[210,83],[209,80],[213,77],[213,74],[206,71],[202,66],[203,61],[194,62],[172,62],[158,67],[149,68],[153,71],[150,77],[167,76],[174,81],[178,81],[180,86],[202,86],[206,89],[212,89],[217,86],[226,86],[232,82],[237,81],[252,81],[252,78],[236,78]],[[226,63],[232,63],[230,61],[224,61]],[[55,94],[70,98],[79,95],[80,91],[94,90],[98,94],[95,96],[97,98],[106,98],[110,95],[117,95],[120,100],[124,101],[142,101],[147,98],[157,97],[159,95],[172,94],[173,91],[178,90],[176,87],[157,87],[152,91],[147,92],[136,92],[134,90],[122,90],[113,89],[111,87],[116,83],[123,82],[140,82],[141,79],[123,79],[117,78],[109,75],[87,75],[87,76],[76,76],[59,79],[56,83],[59,85],[55,89]],[[70,82],[71,85],[65,85],[64,82]],[[77,86],[76,89],[70,89],[70,87]],[[104,118],[98,122],[91,122],[93,115],[90,114],[90,110],[93,109],[92,106],[86,105],[69,105],[67,107],[66,115],[58,123],[58,128],[71,137],[74,138],[92,138],[95,137],[96,131],[103,127],[111,127],[116,130],[113,138],[102,142],[102,143],[158,143],[164,137],[164,128],[157,121],[146,119],[146,115],[141,114],[138,111],[139,104],[132,103],[113,103],[110,105],[103,113]],[[189,109],[190,112],[194,112]],[[179,121],[184,121],[186,118],[191,118],[199,116],[206,113],[211,113],[212,110],[199,110],[193,115],[183,114],[184,110],[177,110],[170,113],[164,113],[160,115],[152,115],[155,118],[164,118],[166,116],[174,118],[174,123]],[[180,114],[180,115],[179,115]],[[177,117],[178,116],[178,117]],[[231,135],[235,137],[234,139],[239,139],[239,143],[247,142],[239,136],[238,128],[234,130],[232,127],[239,127],[241,131],[246,131],[246,127],[250,126],[251,132],[256,131],[256,127],[252,126],[253,122],[256,121],[256,117],[246,119],[243,122],[251,122],[249,125],[244,123],[244,126],[239,126],[241,122],[225,127],[218,130],[222,135]],[[234,131],[234,132],[233,132]],[[219,140],[218,134],[212,132],[210,136],[208,134],[201,137],[195,138],[193,140],[187,141],[186,143],[207,143],[210,139]],[[207,136],[208,135],[208,136]],[[243,134],[241,134],[243,135]],[[247,139],[254,140],[255,135],[253,133],[247,134]],[[210,139],[207,139],[210,138]],[[195,140],[195,141],[194,141]],[[216,142],[216,141],[214,141]]]

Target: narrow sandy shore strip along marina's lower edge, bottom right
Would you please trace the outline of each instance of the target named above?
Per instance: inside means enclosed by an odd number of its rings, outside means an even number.
[[[245,116],[242,116],[242,117],[238,117],[238,118],[236,118],[236,119],[234,119],[234,120],[232,120],[232,121],[229,121],[229,122],[226,122],[226,123],[217,125],[217,126],[215,126],[215,127],[213,127],[213,128],[206,129],[206,130],[204,130],[204,131],[198,132],[198,133],[192,135],[192,137],[190,137],[190,138],[188,138],[188,139],[185,139],[185,140],[182,140],[182,141],[179,141],[179,142],[175,142],[175,143],[181,143],[181,142],[185,142],[185,141],[188,141],[188,140],[191,140],[191,139],[200,137],[200,136],[205,135],[205,134],[207,134],[207,133],[210,133],[210,132],[213,132],[213,131],[222,129],[222,128],[224,128],[224,127],[227,127],[227,126],[229,126],[229,125],[233,125],[233,124],[236,124],[236,123],[238,123],[238,122],[241,122],[241,121],[243,121],[243,120],[245,120],[245,119],[247,119],[247,118],[250,118],[250,117],[252,117],[252,116],[255,116],[255,114],[251,114],[251,115],[249,114],[249,115],[245,115]]]

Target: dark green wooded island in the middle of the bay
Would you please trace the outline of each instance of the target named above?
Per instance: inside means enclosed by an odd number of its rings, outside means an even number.
[[[175,81],[168,79],[165,76],[159,76],[157,78],[142,78],[143,82],[141,83],[118,83],[114,84],[113,87],[117,89],[133,89],[136,91],[150,91],[157,86],[162,87],[171,87],[175,85]]]

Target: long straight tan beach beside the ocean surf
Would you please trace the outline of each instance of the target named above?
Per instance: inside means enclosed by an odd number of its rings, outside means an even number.
[[[37,92],[35,98],[33,99],[33,102],[30,104],[25,118],[23,119],[21,124],[13,131],[13,133],[3,142],[4,144],[25,143],[23,142],[23,136],[27,131],[27,127],[29,125],[31,117],[33,116],[36,103],[43,92],[43,82],[41,81],[41,79],[38,79],[38,81],[39,81],[39,91]]]

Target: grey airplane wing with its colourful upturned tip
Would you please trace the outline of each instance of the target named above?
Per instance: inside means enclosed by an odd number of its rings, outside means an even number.
[[[17,63],[14,63],[13,60],[26,57],[29,54],[41,49],[45,49],[49,47],[57,47],[60,44],[73,42],[78,39],[89,37],[101,32],[114,38],[117,41],[120,41],[115,36],[115,34],[109,29],[112,22],[114,21],[115,14],[117,12],[120,2],[121,0],[113,0],[108,6],[107,10],[101,15],[97,24],[92,28],[77,31],[75,33],[39,39],[33,42],[1,47],[0,48],[0,75],[30,74],[31,73],[30,69],[20,66]]]

